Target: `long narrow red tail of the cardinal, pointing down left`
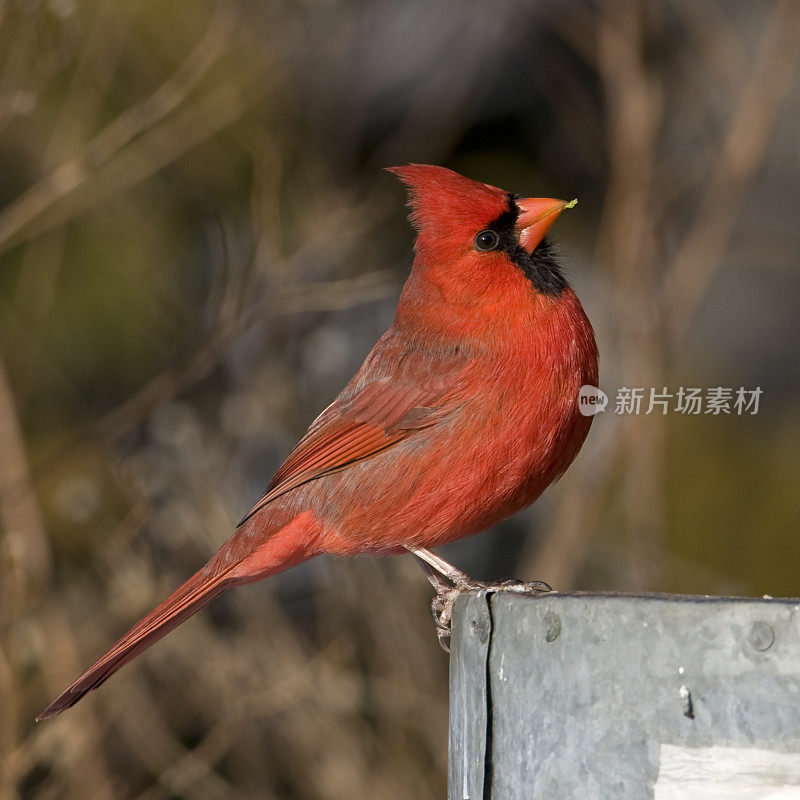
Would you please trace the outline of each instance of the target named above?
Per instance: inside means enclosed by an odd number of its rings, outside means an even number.
[[[296,519],[295,523],[300,521]],[[305,530],[297,530],[297,526],[290,523],[260,546],[246,548],[242,547],[246,531],[240,529],[203,569],[192,575],[183,586],[131,628],[105,655],[53,700],[36,717],[36,721],[40,722],[74,706],[87,692],[96,689],[120,667],[231,586],[281,572],[309,558],[313,552],[304,546],[307,540],[304,541],[305,537],[302,535],[307,532],[308,526],[301,527]]]

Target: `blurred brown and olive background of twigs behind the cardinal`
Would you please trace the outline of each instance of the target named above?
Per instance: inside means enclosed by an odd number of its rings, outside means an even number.
[[[477,578],[800,594],[800,3],[0,0],[0,797],[445,796],[410,558],[238,589],[40,711],[228,537],[391,324],[383,167],[580,198],[609,409],[445,548]],[[618,387],[763,390],[616,415]]]

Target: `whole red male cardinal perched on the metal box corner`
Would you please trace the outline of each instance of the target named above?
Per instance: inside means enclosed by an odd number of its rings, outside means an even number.
[[[597,346],[543,240],[569,204],[443,167],[389,171],[409,189],[417,230],[394,324],[219,552],[37,720],[226,589],[321,553],[410,551],[446,629],[453,592],[477,584],[429,548],[529,505],[577,455],[592,419],[578,393],[597,383]]]

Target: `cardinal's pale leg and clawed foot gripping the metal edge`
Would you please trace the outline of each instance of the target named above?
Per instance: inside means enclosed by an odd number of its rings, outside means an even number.
[[[449,561],[422,547],[409,547],[407,550],[417,559],[425,575],[436,592],[431,602],[431,613],[436,626],[436,636],[442,649],[449,653],[447,640],[450,638],[450,621],[453,616],[453,603],[461,592],[483,590],[486,592],[519,592],[521,594],[544,594],[552,592],[544,581],[505,580],[495,583],[482,583],[470,578],[465,572],[454,567]]]

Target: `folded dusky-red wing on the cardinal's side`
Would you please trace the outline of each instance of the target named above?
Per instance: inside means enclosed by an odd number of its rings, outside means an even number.
[[[311,424],[243,525],[282,494],[375,455],[458,407],[463,358],[403,352],[382,339],[342,394]]]

